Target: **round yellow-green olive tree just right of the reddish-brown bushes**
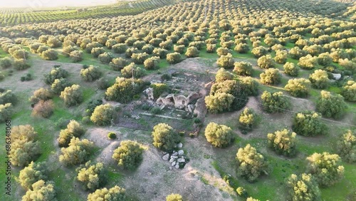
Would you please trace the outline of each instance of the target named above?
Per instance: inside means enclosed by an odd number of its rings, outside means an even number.
[[[80,86],[75,84],[64,88],[59,97],[62,98],[67,107],[79,105],[83,102],[83,92],[81,91]]]

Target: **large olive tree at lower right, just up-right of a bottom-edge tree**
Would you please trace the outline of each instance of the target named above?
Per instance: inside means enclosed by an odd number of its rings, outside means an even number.
[[[341,165],[341,158],[337,154],[313,153],[307,161],[307,172],[312,174],[322,187],[334,185],[344,175],[344,166]]]

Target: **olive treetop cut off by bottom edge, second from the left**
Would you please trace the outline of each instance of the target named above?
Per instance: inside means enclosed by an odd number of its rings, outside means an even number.
[[[107,189],[106,187],[102,189],[95,190],[95,192],[88,195],[88,201],[117,201],[126,200],[125,189],[122,187],[112,187]]]

